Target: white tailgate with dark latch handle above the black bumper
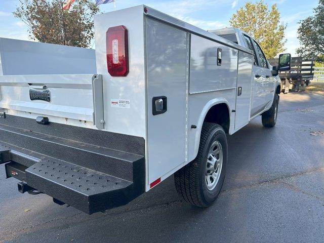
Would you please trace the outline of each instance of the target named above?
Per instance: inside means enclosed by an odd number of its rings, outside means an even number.
[[[93,74],[0,76],[0,108],[93,121]],[[18,113],[17,113],[18,112]]]

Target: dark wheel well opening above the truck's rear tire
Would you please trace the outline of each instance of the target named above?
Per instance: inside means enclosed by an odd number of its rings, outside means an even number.
[[[225,103],[212,106],[205,116],[208,123],[217,123],[223,127],[225,133],[229,131],[229,111]]]

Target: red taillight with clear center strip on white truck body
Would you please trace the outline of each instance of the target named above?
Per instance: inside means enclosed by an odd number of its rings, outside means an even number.
[[[127,76],[128,31],[124,25],[110,27],[106,32],[107,68],[111,76]]]

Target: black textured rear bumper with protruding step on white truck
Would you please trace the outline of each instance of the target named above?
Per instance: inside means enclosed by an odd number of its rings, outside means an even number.
[[[7,178],[88,214],[145,191],[144,139],[134,136],[7,115],[0,119],[0,164]]]

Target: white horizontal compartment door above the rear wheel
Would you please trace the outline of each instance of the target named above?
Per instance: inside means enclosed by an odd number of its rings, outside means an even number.
[[[217,49],[222,64],[217,65]],[[189,92],[207,92],[236,87],[237,50],[209,39],[191,35]]]

